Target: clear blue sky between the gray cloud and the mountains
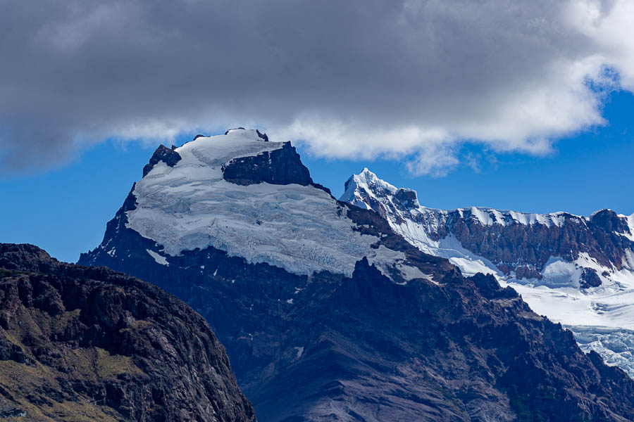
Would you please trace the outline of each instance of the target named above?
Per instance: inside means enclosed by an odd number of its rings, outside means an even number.
[[[414,188],[422,205],[469,205],[529,212],[566,210],[588,215],[603,207],[634,212],[634,96],[612,94],[604,108],[609,124],[556,143],[554,153],[533,157],[494,154],[464,146],[459,156],[480,157],[478,170],[463,164],[446,177],[412,177],[392,160],[326,160],[299,149],[313,179],[343,191],[363,167],[399,187]],[[190,139],[182,136],[181,141]],[[0,179],[0,241],[35,243],[60,260],[75,262],[94,248],[139,179],[154,146],[106,141],[70,165],[38,174]]]

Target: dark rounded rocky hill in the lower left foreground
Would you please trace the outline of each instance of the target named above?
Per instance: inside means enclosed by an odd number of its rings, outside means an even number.
[[[2,409],[20,421],[255,421],[223,346],[183,302],[11,244],[0,244]]]

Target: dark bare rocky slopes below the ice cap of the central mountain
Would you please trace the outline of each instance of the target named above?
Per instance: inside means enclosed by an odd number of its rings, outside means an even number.
[[[465,279],[377,213],[340,206],[360,231],[403,251],[435,283],[399,286],[367,260],[349,278],[324,271],[309,279],[211,247],[170,256],[164,266],[146,252],[158,246],[121,220],[108,224],[108,249],[80,262],[135,274],[197,309],[227,347],[261,421],[634,416],[634,382],[583,354],[569,331],[531,312],[514,290],[491,277]]]

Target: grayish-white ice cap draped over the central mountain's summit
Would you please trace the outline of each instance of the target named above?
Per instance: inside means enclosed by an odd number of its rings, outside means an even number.
[[[402,252],[371,248],[378,238],[354,231],[345,210],[319,188],[241,186],[223,179],[226,162],[282,145],[263,141],[254,130],[235,129],[176,148],[182,160],[174,167],[159,162],[137,182],[128,228],[161,245],[165,256],[152,255],[161,264],[170,255],[209,245],[306,275],[327,270],[351,276],[363,257],[387,274],[395,260],[404,260]],[[415,274],[403,269],[406,279]]]

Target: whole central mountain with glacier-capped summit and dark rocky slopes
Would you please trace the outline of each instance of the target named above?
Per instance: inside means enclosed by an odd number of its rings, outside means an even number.
[[[621,369],[494,275],[465,276],[332,198],[289,143],[234,129],[172,151],[80,264],[150,281],[204,316],[259,421],[634,415]]]

